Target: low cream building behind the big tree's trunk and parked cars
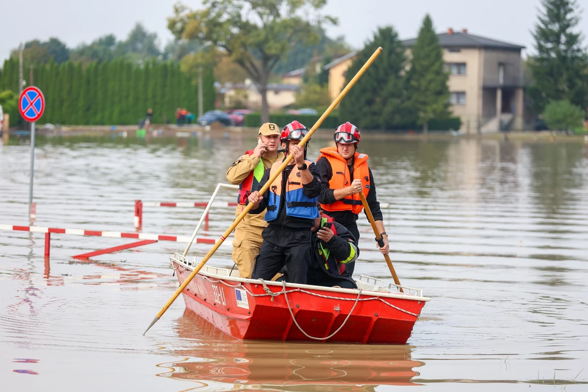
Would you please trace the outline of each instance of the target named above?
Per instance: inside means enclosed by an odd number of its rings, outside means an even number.
[[[293,105],[296,102],[296,93],[299,90],[298,85],[268,83],[268,105],[270,109],[281,109]],[[225,83],[221,86],[219,92],[223,95],[225,106],[235,100],[246,100],[246,105],[250,109],[261,108],[261,94],[258,85],[250,79],[245,79],[245,83]]]

